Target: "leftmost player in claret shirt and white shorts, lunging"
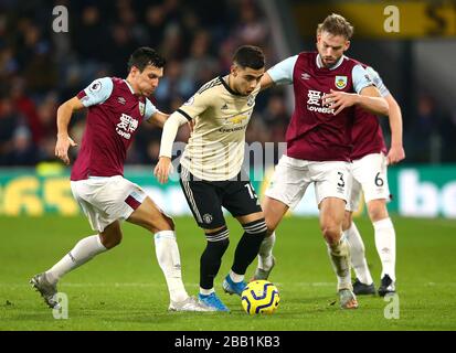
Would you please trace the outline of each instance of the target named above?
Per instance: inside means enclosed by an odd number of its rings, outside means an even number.
[[[155,234],[156,255],[170,295],[170,310],[211,311],[185,291],[174,224],[138,185],[124,175],[127,149],[142,120],[163,125],[168,115],[147,98],[163,75],[165,60],[150,47],[139,47],[128,62],[126,79],[104,77],[94,81],[57,110],[55,156],[70,163],[68,136],[73,111],[88,108],[78,157],[71,173],[71,189],[95,235],[81,239],[59,263],[35,275],[32,286],[51,308],[56,301],[57,281],[68,271],[121,240],[123,221]]]

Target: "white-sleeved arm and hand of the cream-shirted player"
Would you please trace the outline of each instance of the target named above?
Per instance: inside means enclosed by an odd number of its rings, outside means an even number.
[[[153,170],[153,174],[161,184],[168,182],[168,176],[171,172],[172,143],[179,127],[187,121],[183,115],[173,113],[165,122],[160,142],[160,159]]]

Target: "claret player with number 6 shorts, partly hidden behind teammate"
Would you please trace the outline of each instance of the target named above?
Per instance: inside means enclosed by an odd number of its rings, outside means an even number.
[[[352,213],[359,207],[361,191],[368,205],[368,214],[374,228],[377,252],[382,263],[379,295],[395,292],[395,232],[388,214],[386,201],[390,199],[386,165],[405,158],[402,146],[402,115],[394,97],[383,84],[380,75],[365,66],[369,76],[390,106],[391,148],[386,154],[378,117],[359,107],[356,108],[352,130],[353,150],[351,152],[352,188],[346,206],[344,234],[350,244],[351,264],[357,279],[353,291],[357,295],[375,293],[372,276],[364,256],[364,244],[352,222]]]

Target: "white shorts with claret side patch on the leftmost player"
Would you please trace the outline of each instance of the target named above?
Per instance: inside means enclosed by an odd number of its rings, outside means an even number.
[[[127,220],[147,196],[141,188],[120,175],[72,181],[71,188],[92,229],[98,232],[115,221]]]

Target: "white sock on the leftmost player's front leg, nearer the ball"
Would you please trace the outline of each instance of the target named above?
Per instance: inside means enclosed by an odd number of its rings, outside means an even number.
[[[173,231],[161,231],[155,234],[157,260],[167,280],[169,296],[172,301],[185,300],[189,295],[182,282],[180,254]]]

